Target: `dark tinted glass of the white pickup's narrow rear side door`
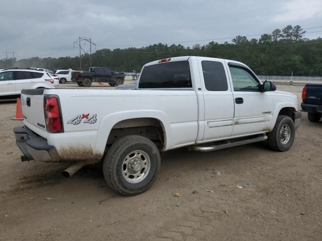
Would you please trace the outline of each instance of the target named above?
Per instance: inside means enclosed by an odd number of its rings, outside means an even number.
[[[202,61],[201,65],[207,90],[228,90],[227,77],[222,63],[215,61]]]

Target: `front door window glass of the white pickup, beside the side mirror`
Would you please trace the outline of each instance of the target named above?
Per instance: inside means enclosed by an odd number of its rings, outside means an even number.
[[[244,68],[229,66],[234,91],[260,91],[260,83]]]

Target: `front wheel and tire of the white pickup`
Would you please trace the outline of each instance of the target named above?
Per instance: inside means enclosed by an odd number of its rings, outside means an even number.
[[[274,129],[268,135],[268,145],[272,150],[285,152],[293,145],[295,127],[293,119],[286,115],[279,115]]]

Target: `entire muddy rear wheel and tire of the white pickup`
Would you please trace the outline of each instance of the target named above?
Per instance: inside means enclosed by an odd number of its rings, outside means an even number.
[[[133,196],[154,183],[160,165],[160,154],[153,142],[141,136],[126,136],[107,151],[103,174],[115,192]]]

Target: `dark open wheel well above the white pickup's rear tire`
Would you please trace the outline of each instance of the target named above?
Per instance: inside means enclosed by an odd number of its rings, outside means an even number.
[[[166,147],[164,126],[156,118],[133,118],[118,122],[110,132],[107,146],[129,135],[138,135],[151,140],[160,151]]]

